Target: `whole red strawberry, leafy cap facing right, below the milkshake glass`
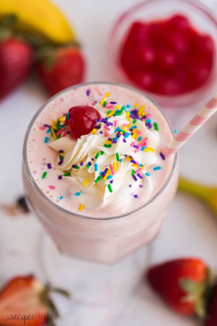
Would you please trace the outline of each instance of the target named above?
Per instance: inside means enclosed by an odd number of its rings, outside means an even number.
[[[168,261],[151,268],[147,277],[174,310],[183,315],[205,316],[205,291],[211,280],[209,269],[202,260]]]

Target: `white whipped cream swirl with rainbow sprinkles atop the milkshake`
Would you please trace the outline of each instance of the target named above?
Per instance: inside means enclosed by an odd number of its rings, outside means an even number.
[[[106,116],[106,111],[102,111],[104,109],[102,106],[97,107],[96,105],[95,108],[98,109],[102,117]],[[96,125],[100,128],[96,129],[93,134],[83,135],[77,140],[67,135],[55,141],[52,139],[48,143],[52,149],[58,152],[57,163],[60,161],[59,151],[64,152],[63,162],[61,165],[57,164],[57,167],[64,173],[70,173],[64,178],[68,178],[72,182],[73,188],[81,192],[81,201],[90,209],[100,208],[109,202],[121,202],[130,195],[137,196],[141,186],[152,187],[150,179],[145,173],[146,168],[155,164],[157,160],[157,154],[153,149],[159,142],[158,132],[149,130],[145,123],[138,119],[136,130],[139,130],[139,135],[137,134],[137,137],[133,138],[129,129],[134,127],[135,123],[132,118],[127,117],[125,111],[119,116],[111,116],[107,121],[111,122],[108,128],[110,130],[104,128],[105,123],[97,122]],[[126,127],[123,127],[124,125]],[[119,138],[115,138],[118,127],[121,130],[128,129],[127,138],[124,138],[122,133]],[[107,137],[104,136],[106,131],[108,132]],[[147,139],[146,151],[141,150],[139,136],[142,137],[141,141]],[[104,144],[111,143],[108,138],[116,139],[116,143],[112,143],[111,147],[104,146]],[[126,139],[126,142],[123,139]],[[133,147],[133,142],[135,145],[140,145],[140,150],[136,151],[137,148]],[[151,150],[147,150],[147,146]],[[119,160],[117,160],[116,153],[119,155]],[[112,169],[114,162],[116,162],[115,171]],[[108,171],[103,177],[102,172],[105,169]],[[134,177],[133,170],[135,171]],[[96,182],[98,179],[100,180]]]

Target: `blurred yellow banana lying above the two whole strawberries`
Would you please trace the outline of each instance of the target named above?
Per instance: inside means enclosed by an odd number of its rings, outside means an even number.
[[[48,0],[0,0],[0,17],[11,14],[18,17],[17,30],[37,33],[57,44],[75,39],[60,9]]]

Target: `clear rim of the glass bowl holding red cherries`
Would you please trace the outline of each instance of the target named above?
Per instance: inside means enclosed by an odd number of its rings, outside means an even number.
[[[153,3],[161,3],[162,4],[164,1],[165,2],[166,1],[173,2],[173,0],[142,0],[139,3],[134,4],[131,7],[129,7],[128,9],[126,9],[115,20],[115,23],[114,23],[112,30],[110,32],[110,35],[109,35],[109,44],[111,45],[114,43],[116,29],[119,28],[120,24],[127,17],[129,17],[129,15],[131,15],[132,12],[135,12],[144,6],[153,5]],[[210,19],[210,21],[212,21],[214,23],[214,25],[217,29],[217,15],[205,3],[203,3],[199,0],[176,0],[176,2],[180,3],[180,4],[183,3],[183,4],[191,6],[192,8],[199,9],[201,12],[206,14],[207,18]],[[216,46],[216,48],[215,48],[215,54],[216,54],[217,42],[215,42],[215,46]],[[109,47],[109,49],[111,50],[111,47]],[[110,57],[110,62],[112,63],[112,65],[115,66],[116,76],[118,76],[120,78],[121,82],[129,82],[130,85],[132,85],[132,87],[138,87],[142,91],[142,88],[137,86],[136,84],[134,84],[134,82],[131,81],[131,79],[126,75],[126,73],[124,72],[122,67],[120,67],[120,65],[117,61],[116,54],[114,55],[113,53],[114,53],[114,51],[110,51],[109,57]],[[176,106],[179,106],[179,107],[183,106],[183,105],[188,106],[188,105],[191,105],[192,103],[194,103],[195,97],[199,96],[200,98],[203,98],[203,94],[208,89],[210,89],[210,87],[214,87],[214,85],[216,85],[216,76],[217,76],[217,60],[215,59],[214,66],[212,67],[210,76],[204,82],[204,84],[199,86],[197,89],[194,89],[194,90],[189,91],[184,94],[177,94],[177,95],[158,94],[158,93],[151,92],[149,90],[144,90],[144,92],[146,92],[148,94],[148,96],[150,96],[150,97],[154,96],[156,98],[156,101],[159,101],[160,104],[163,106],[167,105],[168,107],[171,107],[170,103],[172,103],[172,101],[176,101]]]

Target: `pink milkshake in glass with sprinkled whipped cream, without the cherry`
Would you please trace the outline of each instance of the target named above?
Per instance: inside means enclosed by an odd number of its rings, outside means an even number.
[[[75,139],[68,110],[81,105],[99,117]],[[178,181],[177,156],[161,153],[172,138],[155,102],[114,83],[72,87],[36,113],[24,142],[25,191],[63,254],[114,263],[156,236]]]

